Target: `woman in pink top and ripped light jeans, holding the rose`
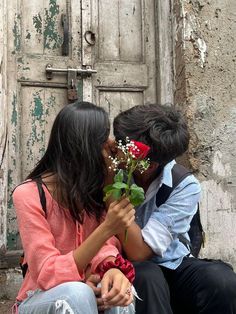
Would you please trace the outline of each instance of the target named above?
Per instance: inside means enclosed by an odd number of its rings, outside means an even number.
[[[64,107],[44,156],[13,193],[28,265],[19,313],[134,312],[133,266],[118,255],[114,235],[130,226],[135,211],[125,198],[107,209],[103,202],[109,131],[102,108],[88,102]]]

